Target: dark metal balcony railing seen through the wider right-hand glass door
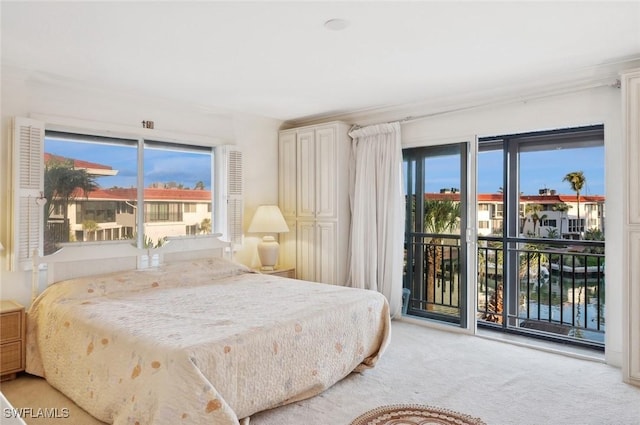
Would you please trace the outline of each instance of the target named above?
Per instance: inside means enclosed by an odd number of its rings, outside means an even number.
[[[604,242],[510,238],[506,255],[503,245],[478,238],[479,324],[604,347]]]

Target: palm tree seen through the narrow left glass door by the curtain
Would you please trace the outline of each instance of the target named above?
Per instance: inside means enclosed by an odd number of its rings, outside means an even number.
[[[436,276],[442,273],[442,245],[443,234],[450,234],[458,227],[460,220],[460,203],[451,200],[435,201],[427,200],[424,204],[424,227],[425,232],[435,233],[438,236],[432,237],[427,244],[427,302],[435,301]],[[427,309],[432,309],[433,305],[428,304]]]

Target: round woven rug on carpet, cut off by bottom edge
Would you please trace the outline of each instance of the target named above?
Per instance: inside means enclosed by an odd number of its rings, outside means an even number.
[[[358,416],[351,425],[486,425],[453,410],[419,404],[381,406]]]

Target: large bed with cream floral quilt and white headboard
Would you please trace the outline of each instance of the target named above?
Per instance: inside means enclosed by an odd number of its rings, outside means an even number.
[[[28,312],[27,372],[107,423],[226,425],[376,364],[381,294],[255,273],[227,248],[176,238],[36,259],[34,288],[45,264],[48,285]]]

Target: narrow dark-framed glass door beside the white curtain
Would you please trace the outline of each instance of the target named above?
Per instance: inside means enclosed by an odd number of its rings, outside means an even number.
[[[467,326],[468,144],[404,150],[405,314]]]

